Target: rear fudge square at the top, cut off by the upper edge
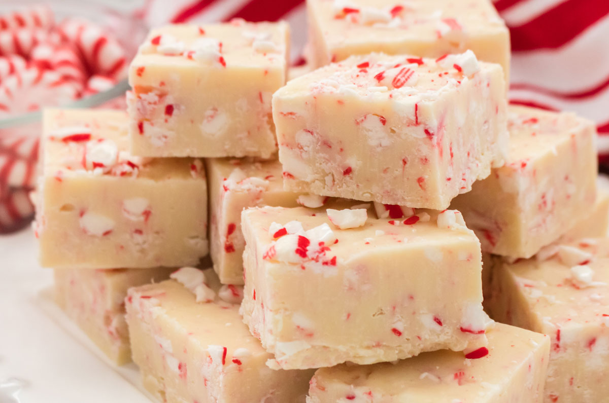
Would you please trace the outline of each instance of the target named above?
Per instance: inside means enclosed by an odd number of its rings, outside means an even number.
[[[509,75],[510,33],[489,0],[309,0],[317,66],[370,52],[440,57],[474,51]]]

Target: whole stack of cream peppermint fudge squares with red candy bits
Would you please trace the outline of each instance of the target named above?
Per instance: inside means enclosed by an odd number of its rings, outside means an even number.
[[[489,0],[307,6],[288,82],[286,23],[172,25],[45,111],[58,304],[160,401],[606,401],[594,125],[508,105]]]

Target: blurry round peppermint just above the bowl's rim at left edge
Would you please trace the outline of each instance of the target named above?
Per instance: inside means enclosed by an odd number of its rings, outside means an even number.
[[[79,97],[82,85],[65,80],[55,71],[36,66],[9,75],[0,85],[0,116],[59,106]]]

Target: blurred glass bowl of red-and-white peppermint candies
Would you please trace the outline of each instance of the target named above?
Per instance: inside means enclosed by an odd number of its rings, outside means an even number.
[[[0,2],[0,233],[33,214],[41,109],[124,108],[128,63],[146,34],[136,12],[116,6]]]

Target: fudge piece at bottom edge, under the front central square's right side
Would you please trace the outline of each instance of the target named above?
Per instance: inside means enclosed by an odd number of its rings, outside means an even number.
[[[549,337],[496,324],[478,359],[424,352],[398,363],[320,368],[308,403],[540,403]]]

